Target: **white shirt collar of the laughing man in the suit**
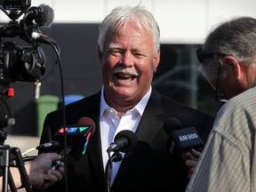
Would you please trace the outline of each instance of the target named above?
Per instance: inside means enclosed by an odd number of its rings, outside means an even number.
[[[144,109],[147,106],[151,92],[152,92],[152,87],[150,86],[148,92],[143,96],[140,102],[134,107],[140,113],[140,116],[142,116]],[[102,85],[101,95],[100,95],[100,117],[103,115],[104,111],[107,108],[110,108],[110,107],[108,106],[104,98],[104,85]]]

